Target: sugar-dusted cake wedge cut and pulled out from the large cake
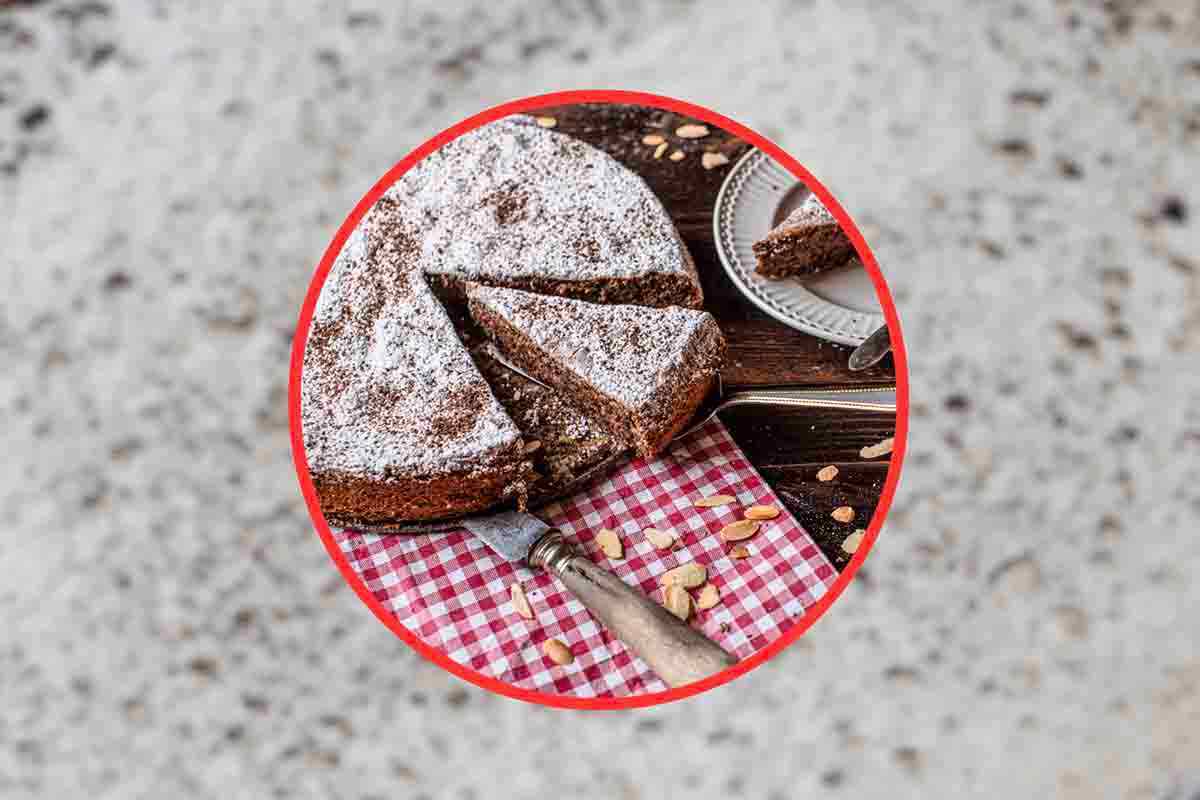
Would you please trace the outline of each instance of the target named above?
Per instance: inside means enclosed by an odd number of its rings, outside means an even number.
[[[725,338],[703,311],[478,284],[467,287],[467,297],[472,317],[509,359],[646,457],[691,419],[725,355]]]

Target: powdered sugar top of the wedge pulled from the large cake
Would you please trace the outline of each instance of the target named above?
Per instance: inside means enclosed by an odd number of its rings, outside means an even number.
[[[700,368],[715,368],[719,361],[720,333],[704,311],[607,306],[498,287],[472,287],[469,296],[630,408],[659,402],[671,368],[695,348],[710,349]]]

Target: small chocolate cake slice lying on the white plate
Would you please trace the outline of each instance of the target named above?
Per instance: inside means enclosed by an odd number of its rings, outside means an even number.
[[[752,246],[756,271],[768,278],[816,275],[846,264],[854,246],[816,194]]]

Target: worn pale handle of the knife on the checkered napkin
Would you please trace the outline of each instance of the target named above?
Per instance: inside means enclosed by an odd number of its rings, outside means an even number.
[[[703,633],[576,553],[557,530],[534,545],[528,561],[558,576],[668,686],[692,684],[737,663]]]

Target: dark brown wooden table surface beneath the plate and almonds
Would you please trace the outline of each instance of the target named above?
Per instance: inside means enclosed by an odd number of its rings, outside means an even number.
[[[832,344],[775,321],[725,275],[713,243],[713,206],[728,170],[750,145],[712,125],[702,139],[684,140],[674,131],[697,122],[673,112],[636,106],[582,104],[547,108],[558,131],[605,150],[640,174],[659,196],[691,251],[704,285],[704,305],[720,323],[730,344],[722,371],[730,390],[756,386],[880,386],[895,383],[892,359],[865,372],[846,366],[851,348]],[[667,149],[655,158],[647,134],[662,136]],[[670,154],[683,150],[682,161]],[[721,152],[728,164],[704,169],[703,152]],[[850,560],[841,542],[865,528],[878,505],[887,459],[864,462],[859,450],[895,433],[895,419],[863,411],[750,409],[721,417],[750,462],[762,473],[788,510],[816,539],[840,570]],[[836,480],[822,483],[816,471],[839,467]],[[829,513],[840,505],[856,511],[850,524]]]

